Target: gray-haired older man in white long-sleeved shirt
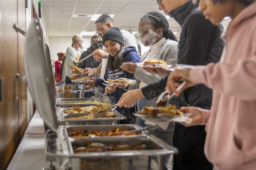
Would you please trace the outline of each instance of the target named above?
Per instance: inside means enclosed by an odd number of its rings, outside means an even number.
[[[79,34],[76,34],[72,37],[72,45],[67,48],[66,51],[66,60],[65,60],[65,73],[66,73],[66,84],[71,84],[70,78],[72,73],[70,72],[75,68],[73,61],[78,62],[81,54],[83,53],[83,37]]]

